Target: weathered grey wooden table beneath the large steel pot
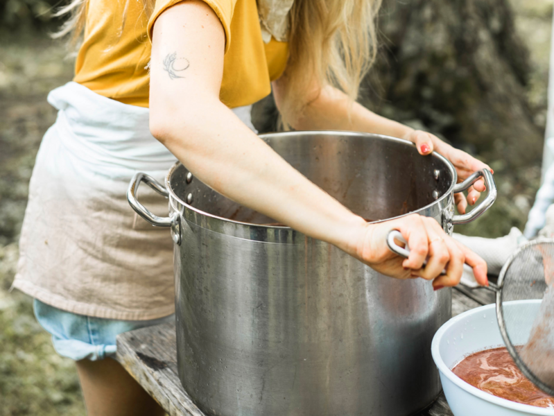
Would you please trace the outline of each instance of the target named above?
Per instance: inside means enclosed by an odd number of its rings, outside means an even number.
[[[452,315],[494,302],[485,289],[455,288]],[[175,324],[137,329],[117,337],[117,359],[171,416],[206,416],[184,391],[177,373]],[[444,394],[417,416],[453,416]]]

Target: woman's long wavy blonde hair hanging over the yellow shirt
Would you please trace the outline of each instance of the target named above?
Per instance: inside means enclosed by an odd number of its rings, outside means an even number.
[[[123,22],[130,0],[124,1]],[[155,0],[141,1],[150,17]],[[87,3],[71,0],[60,8],[55,15],[69,15],[69,19],[53,37],[70,35],[75,46],[85,28]],[[295,0],[288,14],[290,54],[279,109],[284,125],[293,119],[292,114],[302,113],[308,104],[303,101],[306,95],[315,98],[329,85],[341,89],[352,102],[356,100],[361,80],[375,60],[380,6],[381,0]]]

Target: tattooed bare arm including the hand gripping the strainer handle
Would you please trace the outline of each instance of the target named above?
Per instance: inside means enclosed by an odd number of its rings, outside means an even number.
[[[334,244],[387,275],[406,278],[411,269],[434,279],[448,263],[449,275],[439,277],[435,285],[451,286],[459,281],[467,258],[476,276],[486,281],[483,261],[437,229],[434,220],[408,216],[368,224],[279,157],[220,102],[224,48],[220,21],[202,1],[178,3],[155,22],[150,130],[196,177],[228,198]],[[409,259],[399,259],[386,247],[386,234],[393,227],[415,249]],[[428,255],[429,266],[419,270]]]

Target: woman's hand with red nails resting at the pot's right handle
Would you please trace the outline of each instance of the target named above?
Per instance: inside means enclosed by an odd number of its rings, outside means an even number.
[[[462,182],[462,180],[465,180],[469,175],[471,175],[471,173],[481,169],[488,169],[491,173],[494,173],[492,169],[487,166],[487,164],[484,164],[480,160],[477,160],[475,157],[468,155],[462,150],[453,148],[435,135],[431,135],[431,133],[424,132],[422,130],[411,130],[404,136],[404,139],[413,141],[413,143],[417,146],[417,151],[420,155],[429,155],[433,152],[433,150],[436,150],[442,156],[449,159],[458,173],[458,182]],[[464,198],[462,193],[454,194],[454,200],[456,201],[458,212],[460,212],[460,214],[465,214],[467,204],[469,203],[469,205],[474,205],[479,199],[481,192],[485,190],[485,182],[483,182],[483,179],[480,179],[467,190],[466,198]]]

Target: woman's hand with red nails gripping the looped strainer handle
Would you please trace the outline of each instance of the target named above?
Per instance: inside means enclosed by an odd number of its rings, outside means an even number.
[[[368,266],[390,277],[410,279],[422,277],[433,280],[433,288],[456,286],[460,282],[463,264],[474,270],[479,284],[486,286],[487,263],[477,254],[447,235],[434,218],[411,214],[383,223],[358,223],[347,252]],[[387,236],[397,229],[408,241],[408,259],[393,253],[387,245]],[[427,265],[423,267],[424,261]],[[442,270],[447,274],[442,275]]]

